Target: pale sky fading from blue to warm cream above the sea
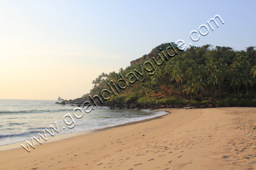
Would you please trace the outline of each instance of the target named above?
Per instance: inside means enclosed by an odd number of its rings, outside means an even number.
[[[256,46],[255,6],[254,0],[0,0],[0,99],[76,99],[102,72],[179,39],[187,47]],[[217,21],[220,27],[191,41],[190,32],[215,15],[225,24]]]

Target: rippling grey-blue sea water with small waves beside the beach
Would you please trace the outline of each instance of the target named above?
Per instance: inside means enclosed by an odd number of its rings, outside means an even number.
[[[84,113],[81,119],[76,119],[73,115],[76,106],[59,105],[55,102],[57,100],[0,99],[0,146],[30,140],[33,136],[38,138],[38,133],[43,135],[43,129],[47,128],[50,131],[50,125],[55,128],[55,122],[59,128],[59,133],[54,131],[56,136],[102,129],[166,114],[160,110],[113,110],[107,107],[98,107],[90,113]],[[63,121],[64,115],[68,113],[76,123],[72,129],[68,128]],[[77,116],[81,115],[80,113],[79,110],[76,111]],[[66,117],[66,120],[71,122],[69,117]],[[46,135],[50,136],[48,133]]]

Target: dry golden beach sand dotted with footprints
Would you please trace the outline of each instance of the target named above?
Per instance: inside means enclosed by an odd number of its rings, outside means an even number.
[[[0,151],[0,169],[256,170],[256,108],[163,110],[170,114],[43,143],[30,153]]]

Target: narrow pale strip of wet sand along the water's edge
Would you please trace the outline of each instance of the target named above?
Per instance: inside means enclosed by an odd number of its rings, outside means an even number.
[[[157,109],[157,110],[160,110],[160,109]],[[170,112],[166,112],[166,114],[170,114]],[[75,132],[75,133],[67,133],[67,134],[61,134],[61,135],[56,135],[56,136],[47,136],[48,140],[47,141],[42,140],[43,141],[42,145],[44,143],[61,141],[63,139],[72,138],[74,136],[80,136],[80,135],[90,134],[90,133],[97,133],[99,131],[106,131],[106,130],[112,129],[112,128],[118,128],[118,127],[122,127],[122,126],[128,126],[128,125],[132,125],[132,124],[137,124],[137,123],[140,123],[140,122],[146,122],[146,121],[150,121],[150,120],[154,120],[154,119],[160,119],[161,117],[165,116],[166,114],[163,114],[163,115],[160,115],[160,116],[156,116],[156,117],[152,117],[152,118],[148,118],[148,119],[143,119],[143,120],[140,120],[140,121],[133,121],[133,122],[127,122],[127,123],[124,123],[124,124],[118,124],[118,125],[115,125],[115,126],[109,126],[109,127],[101,128],[101,129],[93,129],[93,130],[88,130],[88,131],[81,131],[81,132]],[[34,135],[34,136],[36,136],[36,135]],[[28,139],[26,141],[30,142],[31,140]],[[0,151],[21,148],[21,144],[26,146],[26,143],[25,143],[26,141],[11,143],[11,144],[7,144],[7,145],[1,145],[0,146]],[[40,145],[38,142],[36,142],[36,141],[34,141],[34,142],[35,142],[35,145]]]

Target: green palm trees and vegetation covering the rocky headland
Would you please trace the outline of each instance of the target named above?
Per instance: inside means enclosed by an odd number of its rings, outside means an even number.
[[[117,82],[119,74],[140,70],[145,60],[156,58],[159,48],[166,49],[167,46],[167,43],[157,46],[149,54],[132,61],[132,66],[120,68],[118,73],[102,73],[93,80],[94,87],[90,94],[100,96],[101,90],[108,88],[108,82]],[[140,79],[125,90],[120,90],[106,104],[116,100],[121,104],[190,102],[206,105],[211,102],[229,106],[256,106],[256,50],[253,46],[245,51],[220,46],[213,48],[209,44],[192,46],[186,51],[178,51],[178,55],[163,65],[156,66],[156,74],[144,75],[144,82]]]

